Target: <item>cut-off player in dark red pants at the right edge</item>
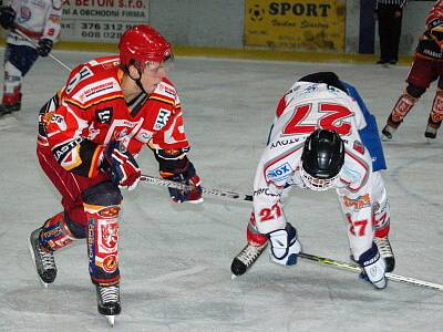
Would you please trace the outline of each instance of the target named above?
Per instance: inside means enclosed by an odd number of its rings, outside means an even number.
[[[426,92],[430,84],[437,81],[437,89],[427,117],[424,136],[435,138],[443,120],[443,2],[436,1],[426,18],[426,31],[419,40],[414,62],[409,72],[408,86],[396,101],[382,137],[392,139],[404,117]]]

